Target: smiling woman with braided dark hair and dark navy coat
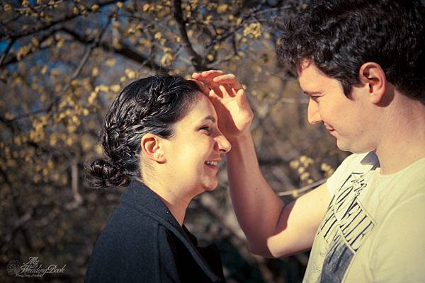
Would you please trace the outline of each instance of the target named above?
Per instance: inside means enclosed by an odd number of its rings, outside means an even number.
[[[94,187],[128,186],[98,238],[85,282],[223,282],[215,246],[183,225],[189,202],[217,187],[229,141],[198,85],[179,76],[130,83],[103,122],[107,158],[86,170]]]

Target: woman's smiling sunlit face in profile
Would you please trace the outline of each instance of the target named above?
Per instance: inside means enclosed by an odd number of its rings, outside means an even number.
[[[217,127],[212,103],[199,93],[186,116],[174,125],[174,137],[165,143],[168,172],[175,177],[171,185],[183,187],[195,195],[214,190],[218,185],[221,154],[230,147]]]

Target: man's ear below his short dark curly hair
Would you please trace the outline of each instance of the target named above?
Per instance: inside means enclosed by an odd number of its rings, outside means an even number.
[[[379,64],[367,62],[361,65],[358,77],[369,88],[369,98],[372,103],[379,103],[385,95],[387,79]]]

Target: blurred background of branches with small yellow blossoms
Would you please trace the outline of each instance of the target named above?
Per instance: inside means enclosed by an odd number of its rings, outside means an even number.
[[[66,272],[22,282],[84,278],[124,188],[92,190],[83,166],[102,155],[103,115],[134,79],[206,69],[237,74],[256,114],[261,170],[287,201],[345,156],[324,129],[306,125],[307,98],[276,59],[279,23],[304,1],[1,3],[1,282],[19,281],[4,272],[6,263],[30,256],[45,266],[66,264]],[[228,282],[300,282],[307,254],[270,260],[249,253],[225,168],[219,176],[215,192],[193,200],[186,223],[201,243],[219,245]]]

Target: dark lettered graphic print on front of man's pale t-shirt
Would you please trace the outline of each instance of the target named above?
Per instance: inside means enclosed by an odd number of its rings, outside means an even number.
[[[351,173],[329,204],[318,231],[329,243],[319,282],[341,282],[365,236],[375,226],[358,201],[364,187],[364,173]]]

